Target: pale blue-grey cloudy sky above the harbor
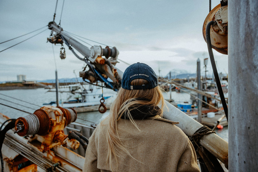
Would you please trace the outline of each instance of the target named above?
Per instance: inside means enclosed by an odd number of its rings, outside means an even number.
[[[212,8],[220,0],[212,0]],[[209,0],[131,0],[82,1],[59,0],[55,22],[63,30],[108,46],[115,46],[118,59],[129,64],[144,62],[157,75],[169,71],[196,73],[197,59],[208,58],[207,44],[202,35],[204,19],[209,13]],[[54,0],[1,0],[0,42],[27,34],[53,21]],[[0,51],[17,44],[41,31],[0,44]],[[47,43],[50,30],[0,52],[0,81],[54,79],[57,67],[59,78],[79,75],[85,65],[66,49],[66,59],[59,58],[60,45]],[[87,41],[90,45],[101,45]],[[87,45],[88,46],[88,45]],[[105,46],[101,45],[103,48]],[[90,48],[90,46],[88,46]],[[227,73],[228,56],[213,50],[218,72]],[[56,65],[55,65],[56,61]],[[127,64],[116,65],[124,71]],[[160,69],[160,71],[159,71]],[[212,74],[210,61],[208,73]],[[75,73],[74,73],[75,71]]]

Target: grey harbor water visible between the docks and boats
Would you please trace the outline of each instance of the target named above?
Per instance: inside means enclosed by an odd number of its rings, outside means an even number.
[[[103,89],[103,96],[113,94],[113,100],[115,99],[116,92],[110,89]],[[163,93],[165,99],[173,99],[175,103],[189,102],[190,95],[187,93],[178,93],[172,91],[171,93]],[[62,93],[58,95],[59,99],[66,100],[68,97],[67,93]],[[10,107],[0,104],[0,113],[8,116],[9,118],[19,118],[28,115],[28,113],[33,113],[35,110],[42,107],[43,103],[49,103],[50,101],[55,101],[56,93],[48,92],[48,89],[38,88],[38,89],[15,89],[15,90],[2,90],[0,91],[0,103],[8,105]],[[22,100],[22,101],[21,101]],[[11,108],[14,107],[14,108]],[[18,109],[18,110],[17,110]],[[22,111],[25,112],[22,112]],[[28,112],[28,113],[26,113]],[[106,116],[109,115],[109,111],[104,114],[97,112],[85,112],[78,113],[76,122],[95,125],[101,122]],[[179,121],[180,122],[180,121]],[[216,134],[221,138],[228,141],[228,128],[216,129]]]

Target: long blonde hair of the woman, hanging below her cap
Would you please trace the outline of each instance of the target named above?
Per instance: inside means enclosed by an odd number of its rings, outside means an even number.
[[[134,79],[131,85],[144,85],[148,84],[148,81],[144,79]],[[142,98],[139,100],[137,98]],[[162,90],[159,86],[153,89],[146,90],[127,90],[122,87],[118,91],[118,95],[110,108],[110,122],[107,127],[107,164],[109,161],[110,169],[113,171],[112,167],[112,157],[116,160],[116,168],[118,168],[118,156],[121,153],[126,153],[130,155],[126,147],[123,145],[121,138],[118,135],[117,122],[121,119],[122,114],[130,119],[130,121],[136,126],[134,120],[130,114],[129,107],[133,105],[158,105],[161,102],[161,108],[158,111],[159,116],[162,116],[164,109],[164,97]],[[137,107],[136,107],[137,108]],[[137,126],[136,126],[137,127]],[[130,155],[131,156],[131,155]],[[132,156],[131,156],[132,157]],[[134,157],[132,157],[134,159]],[[138,161],[138,160],[137,160]]]

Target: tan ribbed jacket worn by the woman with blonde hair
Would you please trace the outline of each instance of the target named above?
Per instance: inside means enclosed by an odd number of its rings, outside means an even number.
[[[106,165],[108,122],[109,118],[102,121],[89,138],[83,172],[111,171],[109,164]],[[200,171],[193,145],[183,131],[174,125],[178,122],[158,118],[135,120],[135,123],[140,130],[130,120],[118,121],[118,134],[134,159],[123,153],[118,157],[116,169],[113,158],[114,171]]]

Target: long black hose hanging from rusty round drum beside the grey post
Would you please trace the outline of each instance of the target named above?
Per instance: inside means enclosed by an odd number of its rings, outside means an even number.
[[[218,92],[219,92],[219,95],[220,95],[220,100],[221,100],[221,103],[222,103],[222,106],[224,108],[224,112],[225,112],[225,115],[226,115],[226,118],[227,118],[227,121],[228,121],[228,106],[227,106],[227,103],[226,103],[226,100],[225,100],[225,97],[224,97],[224,93],[223,93],[223,90],[222,90],[222,87],[221,87],[221,84],[220,84],[220,78],[218,76],[218,71],[217,71],[217,68],[216,68],[216,63],[215,63],[213,52],[212,52],[212,44],[211,44],[211,41],[210,41],[210,26],[212,26],[215,23],[216,23],[216,21],[210,21],[207,24],[207,27],[206,27],[206,42],[207,42],[208,51],[209,51],[209,55],[210,55],[210,62],[212,64],[213,74],[214,74],[215,81],[216,81],[217,88],[218,88]]]

